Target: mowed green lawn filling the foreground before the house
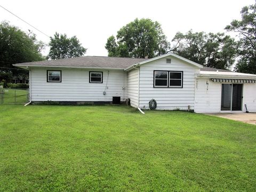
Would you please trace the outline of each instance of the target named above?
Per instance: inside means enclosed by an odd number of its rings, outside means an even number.
[[[255,191],[256,126],[124,106],[0,105],[0,191]]]

